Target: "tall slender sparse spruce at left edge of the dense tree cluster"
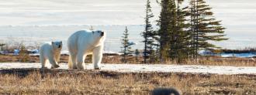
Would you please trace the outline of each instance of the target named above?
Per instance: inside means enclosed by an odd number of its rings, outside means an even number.
[[[150,59],[152,63],[152,51],[153,51],[153,42],[154,42],[154,30],[150,24],[150,18],[153,18],[154,15],[151,11],[150,0],[147,0],[146,5],[146,17],[145,17],[145,30],[142,32],[144,37],[144,63],[147,63],[147,59]]]

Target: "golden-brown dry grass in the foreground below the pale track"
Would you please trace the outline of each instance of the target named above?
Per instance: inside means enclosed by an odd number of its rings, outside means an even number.
[[[116,73],[98,70],[0,70],[0,94],[256,94],[255,75]]]

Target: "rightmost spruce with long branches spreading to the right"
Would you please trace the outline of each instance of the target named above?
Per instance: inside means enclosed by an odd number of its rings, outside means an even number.
[[[200,49],[220,48],[209,41],[223,41],[224,29],[220,22],[213,17],[213,12],[204,0],[192,0],[190,2],[192,50],[193,57],[198,58]]]

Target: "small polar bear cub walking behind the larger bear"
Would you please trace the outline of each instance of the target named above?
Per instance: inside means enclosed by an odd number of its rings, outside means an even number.
[[[40,63],[42,63],[42,68],[47,68],[45,65],[50,62],[51,68],[60,67],[57,63],[60,61],[62,49],[62,42],[51,42],[45,43],[40,47]]]

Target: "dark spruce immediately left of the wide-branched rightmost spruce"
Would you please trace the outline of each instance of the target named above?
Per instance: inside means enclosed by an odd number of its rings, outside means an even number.
[[[176,0],[177,22],[175,25],[175,41],[173,46],[173,52],[175,53],[174,59],[177,59],[178,63],[183,63],[185,59],[189,58],[190,48],[190,33],[189,33],[189,7],[181,7],[183,0]]]

